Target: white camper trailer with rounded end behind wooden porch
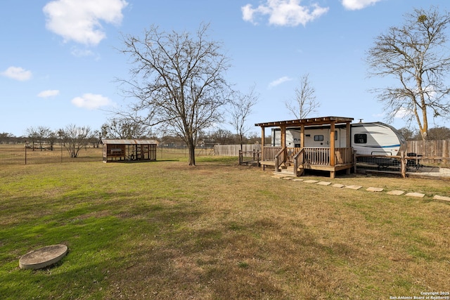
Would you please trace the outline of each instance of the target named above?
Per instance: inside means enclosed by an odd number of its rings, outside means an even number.
[[[381,123],[355,123],[350,128],[352,148],[356,155],[400,155],[406,151],[406,139],[394,127]],[[307,126],[304,128],[305,147],[330,145],[330,126]],[[335,126],[335,147],[345,147],[345,126]],[[272,146],[281,146],[281,129],[272,129]],[[286,146],[300,148],[300,127],[286,129]]]

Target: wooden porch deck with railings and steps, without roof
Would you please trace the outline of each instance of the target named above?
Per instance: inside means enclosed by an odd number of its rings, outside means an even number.
[[[263,159],[260,162],[263,169],[273,167],[274,171],[302,176],[305,169],[329,171],[330,177],[335,178],[335,172],[347,170],[347,174],[354,167],[352,148],[336,148],[335,164],[330,160],[330,148],[289,148],[264,147]]]

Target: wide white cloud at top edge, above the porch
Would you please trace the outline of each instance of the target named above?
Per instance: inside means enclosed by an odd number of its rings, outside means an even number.
[[[300,0],[266,0],[265,4],[252,8],[251,4],[241,7],[243,20],[257,24],[259,15],[269,15],[270,25],[303,26],[328,12],[328,7],[318,4],[301,6]]]

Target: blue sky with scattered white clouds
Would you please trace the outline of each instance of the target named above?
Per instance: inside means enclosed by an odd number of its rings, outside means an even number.
[[[255,86],[248,126],[295,119],[285,102],[305,74],[321,103],[309,117],[386,122],[371,90],[388,82],[368,77],[366,53],[405,13],[430,6],[450,11],[448,0],[2,0],[0,133],[100,129],[127,103],[117,84],[130,78],[122,36],[142,37],[152,25],[195,33],[205,23],[231,59],[226,79],[242,93]]]

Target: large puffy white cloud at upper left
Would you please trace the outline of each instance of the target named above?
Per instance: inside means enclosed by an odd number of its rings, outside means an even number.
[[[44,6],[46,28],[64,41],[97,45],[106,34],[101,22],[119,25],[125,0],[54,0]]]

